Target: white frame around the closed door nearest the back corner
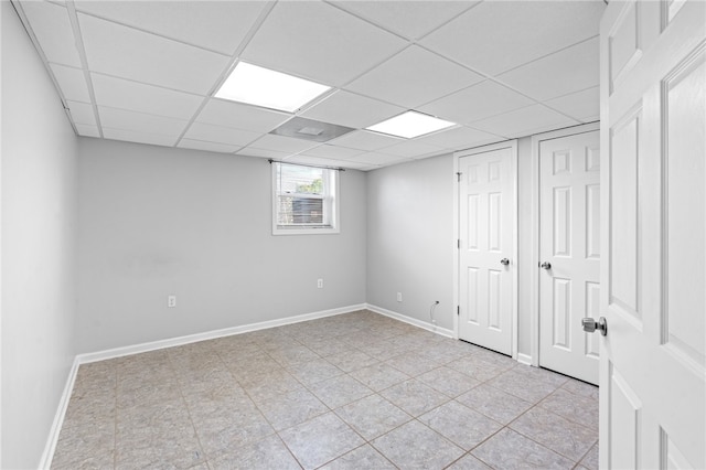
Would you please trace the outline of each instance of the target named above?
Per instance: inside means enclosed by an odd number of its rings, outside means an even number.
[[[453,303],[456,305],[456,313],[453,316],[453,334],[454,339],[459,339],[459,309],[461,306],[460,299],[460,263],[461,257],[459,254],[459,239],[461,238],[461,226],[460,226],[460,185],[459,185],[459,169],[460,169],[460,159],[463,157],[471,157],[478,153],[485,153],[494,150],[510,149],[510,168],[512,171],[512,186],[514,191],[514,196],[512,199],[512,261],[510,264],[512,268],[512,343],[511,343],[511,355],[512,359],[517,359],[517,139],[504,140],[498,143],[491,143],[488,146],[473,147],[467,150],[460,150],[453,152],[453,241],[452,241],[452,249],[453,249]]]

